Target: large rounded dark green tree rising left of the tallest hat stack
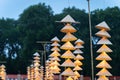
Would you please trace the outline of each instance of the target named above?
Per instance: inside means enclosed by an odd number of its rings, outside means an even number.
[[[48,41],[53,34],[53,11],[44,3],[32,5],[25,9],[19,18],[19,32],[21,42],[21,67],[25,69],[38,49],[42,49],[37,41]],[[26,70],[22,70],[26,72]]]

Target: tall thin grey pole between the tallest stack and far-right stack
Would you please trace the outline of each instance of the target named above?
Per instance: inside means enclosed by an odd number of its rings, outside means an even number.
[[[90,30],[90,53],[91,53],[91,80],[94,80],[94,64],[93,64],[93,46],[92,46],[92,27],[90,15],[90,0],[88,1],[88,16],[89,16],[89,30]]]

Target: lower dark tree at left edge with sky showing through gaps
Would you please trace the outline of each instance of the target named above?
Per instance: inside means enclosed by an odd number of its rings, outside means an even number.
[[[14,19],[0,19],[0,60],[5,61],[7,72],[10,73],[11,68],[18,69],[12,65],[12,60],[19,57],[19,34],[17,30],[17,21]]]

